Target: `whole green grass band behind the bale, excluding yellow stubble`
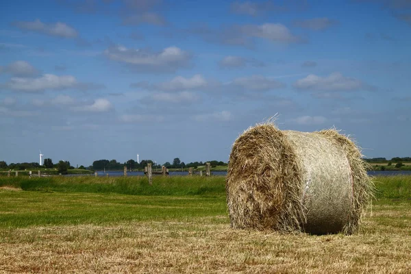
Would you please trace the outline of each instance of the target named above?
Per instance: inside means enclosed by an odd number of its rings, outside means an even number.
[[[374,182],[375,204],[411,205],[411,176],[375,177]],[[2,177],[0,187],[0,227],[222,215],[227,221],[222,176],[155,176],[153,185],[146,177]]]

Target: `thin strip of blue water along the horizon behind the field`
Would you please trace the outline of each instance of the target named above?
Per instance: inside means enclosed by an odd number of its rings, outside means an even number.
[[[110,177],[119,177],[119,176],[123,176],[123,171],[107,171],[106,173],[104,173],[103,171],[99,171],[97,174],[99,176],[107,176],[108,174]],[[194,173],[194,174],[198,175],[199,173]],[[206,172],[203,171],[203,175],[205,174]],[[371,176],[411,175],[411,171],[369,171],[368,174]],[[170,172],[169,175],[170,176],[184,176],[184,175],[188,175],[188,171],[183,171],[183,172],[173,171],[173,172]],[[227,171],[212,171],[212,175],[225,176],[227,175]],[[81,176],[81,175],[73,174],[73,175],[67,175],[67,176]],[[127,172],[127,176],[144,176],[144,172],[142,171]]]

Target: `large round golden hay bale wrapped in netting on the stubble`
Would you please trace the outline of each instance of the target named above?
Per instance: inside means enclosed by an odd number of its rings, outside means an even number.
[[[234,142],[226,191],[232,227],[310,234],[358,229],[373,184],[356,145],[335,129],[281,131],[272,123]]]

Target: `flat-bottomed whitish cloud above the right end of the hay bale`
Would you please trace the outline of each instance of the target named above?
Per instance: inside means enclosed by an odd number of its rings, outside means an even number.
[[[331,73],[327,77],[310,74],[303,79],[297,80],[293,84],[295,88],[301,90],[314,91],[353,91],[353,90],[373,90],[372,86],[361,82],[353,77],[345,77],[341,73]]]

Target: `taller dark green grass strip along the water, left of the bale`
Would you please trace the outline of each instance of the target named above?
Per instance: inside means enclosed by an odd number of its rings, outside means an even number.
[[[3,177],[0,186],[43,192],[91,192],[125,195],[225,195],[225,177]]]

